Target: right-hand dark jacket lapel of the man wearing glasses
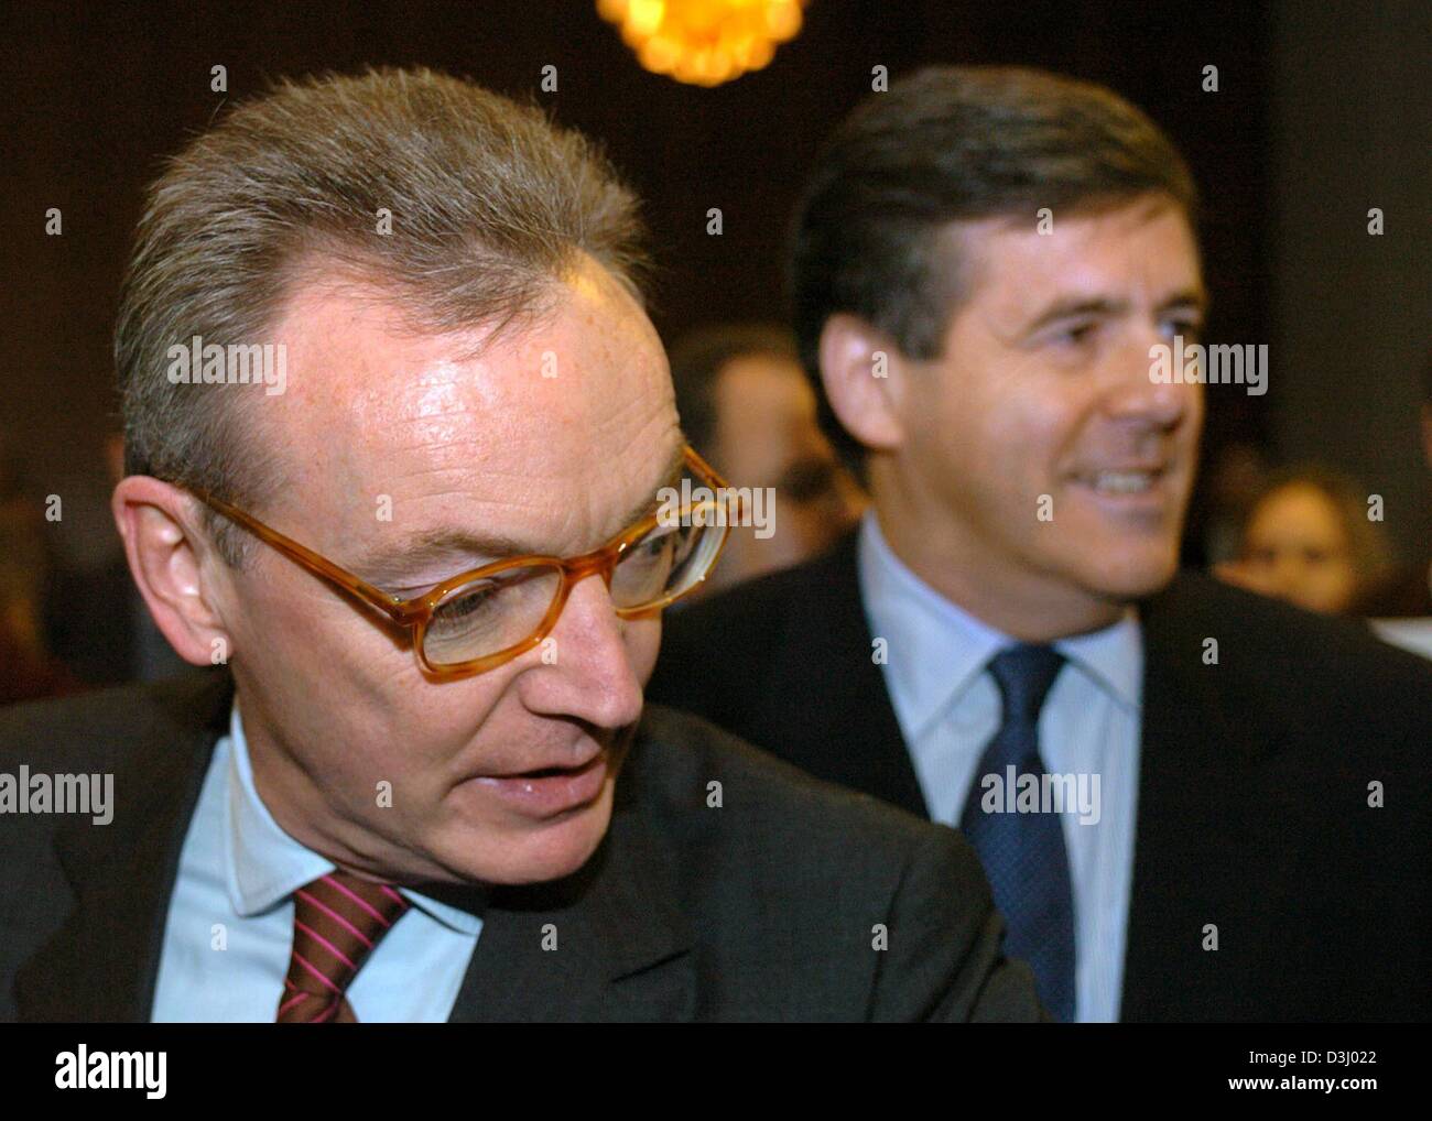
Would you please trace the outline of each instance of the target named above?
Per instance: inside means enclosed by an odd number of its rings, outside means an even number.
[[[626,766],[640,744],[633,746]],[[557,883],[494,889],[453,1008],[470,1021],[686,1021],[696,1015],[692,936],[676,879],[617,782],[593,859]]]

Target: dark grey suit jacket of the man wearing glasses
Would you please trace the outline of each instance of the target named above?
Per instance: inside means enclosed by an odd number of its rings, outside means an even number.
[[[109,825],[0,815],[0,1019],[149,1018],[231,697],[225,673],[0,712],[0,773],[115,773]],[[593,859],[553,885],[495,889],[483,913],[454,1021],[1038,1018],[955,832],[659,707]],[[548,922],[556,952],[541,949]],[[878,923],[886,951],[872,949]]]

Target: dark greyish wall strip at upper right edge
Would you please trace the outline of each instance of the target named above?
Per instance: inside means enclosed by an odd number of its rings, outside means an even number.
[[[1388,528],[1426,555],[1432,4],[1290,3],[1273,29],[1273,434],[1289,458],[1337,462],[1380,494]]]

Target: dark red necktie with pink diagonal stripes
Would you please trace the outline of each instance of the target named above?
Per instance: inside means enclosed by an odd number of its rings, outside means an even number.
[[[344,995],[410,903],[388,883],[329,872],[294,892],[294,955],[278,1024],[355,1024]]]

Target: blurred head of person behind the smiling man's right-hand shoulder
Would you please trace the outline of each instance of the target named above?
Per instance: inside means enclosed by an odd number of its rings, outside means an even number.
[[[1368,518],[1368,492],[1319,465],[1274,472],[1243,523],[1234,560],[1220,580],[1323,614],[1352,614],[1390,571],[1380,523]]]

